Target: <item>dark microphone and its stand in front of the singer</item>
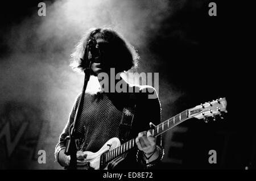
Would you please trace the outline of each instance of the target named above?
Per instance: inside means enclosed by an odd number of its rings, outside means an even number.
[[[75,115],[75,119],[73,121],[73,123],[71,124],[71,126],[69,127],[69,136],[67,136],[65,139],[67,140],[67,144],[66,144],[66,149],[65,149],[65,154],[70,155],[70,163],[68,166],[68,170],[76,170],[76,166],[77,166],[77,157],[76,157],[76,153],[77,150],[79,149],[79,139],[81,137],[81,133],[78,133],[76,128],[77,128],[77,122],[79,120],[79,117],[82,113],[82,108],[84,106],[84,96],[85,96],[85,90],[86,87],[88,85],[88,81],[90,79],[90,68],[92,66],[92,60],[93,60],[93,56],[92,54],[90,55],[89,58],[89,52],[91,50],[91,45],[93,44],[94,41],[93,40],[89,40],[88,44],[87,44],[87,51],[86,51],[86,61],[85,61],[85,69],[84,69],[84,73],[85,73],[85,77],[84,77],[84,86],[82,87],[82,95],[81,98],[79,99],[79,103],[77,105],[77,110],[76,110],[76,115]],[[83,61],[83,60],[82,60]]]

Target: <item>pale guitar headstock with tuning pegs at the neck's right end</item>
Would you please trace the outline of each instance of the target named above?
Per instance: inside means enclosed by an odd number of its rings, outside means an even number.
[[[216,115],[220,115],[223,119],[223,113],[226,113],[226,98],[213,100],[212,102],[204,103],[188,110],[188,117],[195,117],[197,119],[204,119],[208,122],[208,117],[213,117],[215,120]]]

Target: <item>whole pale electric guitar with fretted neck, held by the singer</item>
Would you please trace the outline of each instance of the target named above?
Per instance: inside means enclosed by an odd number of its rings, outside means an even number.
[[[218,117],[223,119],[223,114],[227,112],[226,106],[227,102],[225,98],[213,100],[212,102],[204,103],[185,110],[148,131],[151,132],[152,136],[156,137],[191,118],[204,119],[205,122],[208,122],[209,117],[213,117],[213,120],[216,120],[216,116],[218,115]],[[119,139],[114,137],[106,142],[106,144],[96,153],[84,151],[83,154],[86,155],[84,162],[89,162],[90,169],[107,169],[110,161],[136,146],[135,138],[121,145]]]

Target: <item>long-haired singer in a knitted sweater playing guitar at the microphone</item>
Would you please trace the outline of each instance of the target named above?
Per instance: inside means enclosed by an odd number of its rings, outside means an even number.
[[[151,86],[130,85],[122,78],[118,81],[115,79],[114,82],[122,81],[122,85],[133,92],[111,92],[109,88],[113,86],[110,83],[111,71],[114,69],[116,75],[137,66],[137,52],[117,32],[109,28],[93,29],[82,37],[72,54],[71,65],[76,71],[84,70],[86,45],[89,40],[96,41],[98,50],[94,55],[95,60],[92,62],[90,74],[98,77],[99,82],[104,81],[104,86],[100,84],[100,90],[86,89],[85,92],[82,113],[76,123],[77,132],[82,135],[77,150],[77,169],[88,169],[88,162],[85,161],[87,155],[82,151],[95,153],[110,138],[120,139],[122,132],[128,134],[126,140],[122,138],[121,144],[135,138],[137,147],[110,162],[108,169],[155,169],[156,163],[160,162],[164,154],[161,137],[153,137],[150,132],[146,132],[154,125],[158,125],[161,120],[160,102],[155,89]],[[109,81],[102,79],[102,73],[109,75]],[[150,99],[149,94],[156,94],[155,99]],[[70,162],[70,156],[65,154],[65,138],[73,123],[80,98],[81,94],[77,96],[68,123],[55,148],[56,161],[63,167],[69,166]],[[121,119],[124,116],[133,117],[129,131],[125,127],[121,129]]]

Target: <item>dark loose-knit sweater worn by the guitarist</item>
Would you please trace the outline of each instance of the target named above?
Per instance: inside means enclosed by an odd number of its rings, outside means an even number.
[[[139,132],[150,129],[150,122],[155,125],[160,123],[161,109],[159,99],[148,99],[148,94],[156,94],[154,88],[150,86],[133,86],[132,88],[134,91],[138,89],[139,92],[85,92],[84,106],[77,123],[77,132],[82,135],[80,138],[80,150],[97,152],[110,138],[119,137],[119,124],[124,107],[136,104],[133,129],[129,138],[135,138]],[[153,93],[149,93],[153,90]],[[80,98],[81,94],[77,96],[69,115],[68,123],[65,125],[56,145],[55,152],[65,148],[65,137],[68,136],[69,126],[73,123]],[[160,137],[158,137],[158,145],[161,144],[160,140]],[[129,151],[126,159],[119,163],[115,169],[142,169],[142,165],[136,161],[136,153],[137,150]]]

